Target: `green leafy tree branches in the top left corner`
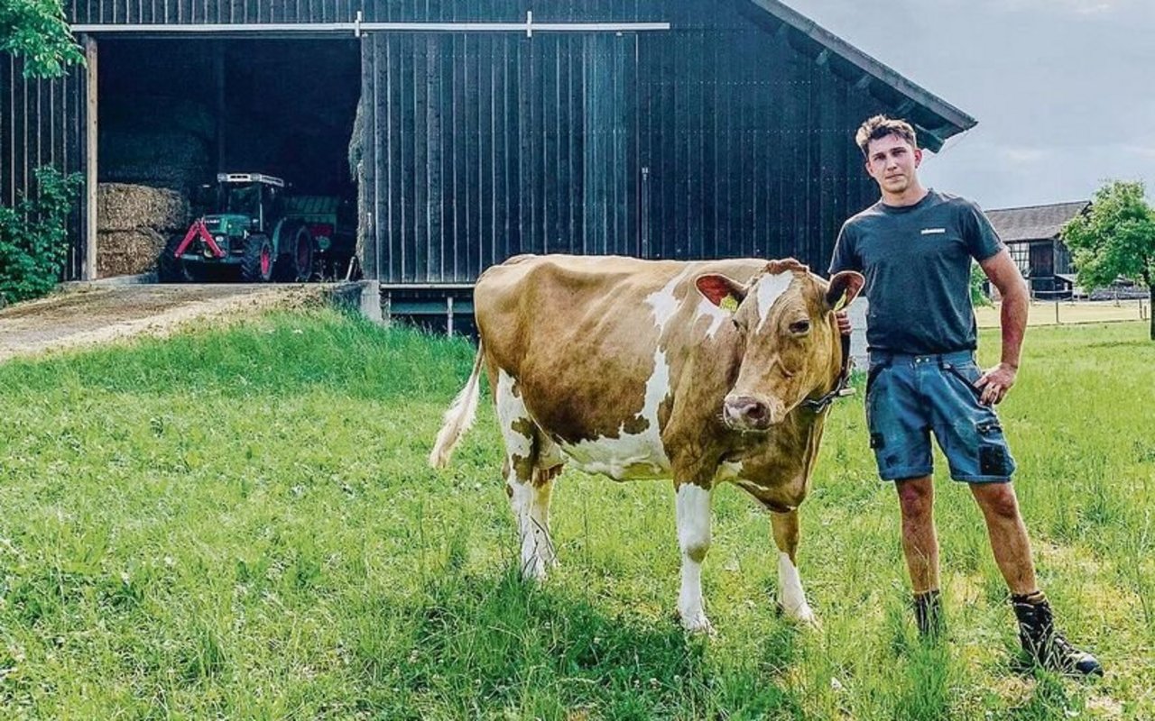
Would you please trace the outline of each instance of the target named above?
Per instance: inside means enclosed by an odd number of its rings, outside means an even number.
[[[84,63],[60,0],[0,2],[0,52],[22,57],[25,77],[59,77]]]

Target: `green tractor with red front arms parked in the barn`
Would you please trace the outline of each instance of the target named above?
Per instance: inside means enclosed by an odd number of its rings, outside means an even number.
[[[239,271],[245,283],[312,278],[316,251],[312,218],[292,213],[283,180],[221,173],[215,186],[202,190],[198,200],[210,212],[169,240],[157,262],[157,280],[198,281],[224,270]]]

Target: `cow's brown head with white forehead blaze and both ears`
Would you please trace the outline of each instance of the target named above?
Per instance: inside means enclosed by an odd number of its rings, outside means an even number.
[[[698,278],[699,292],[733,320],[742,366],[722,415],[735,430],[763,431],[835,382],[841,340],[834,313],[858,295],[854,271],[829,283],[793,258],[770,261],[748,283],[720,275]]]

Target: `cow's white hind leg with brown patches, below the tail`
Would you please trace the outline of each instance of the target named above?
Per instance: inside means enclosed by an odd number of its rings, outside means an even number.
[[[506,493],[521,540],[521,574],[527,579],[544,580],[545,570],[553,559],[549,518],[556,473],[551,475],[537,471],[537,438],[541,434],[521,400],[514,380],[505,371],[498,373],[494,400],[506,446]]]

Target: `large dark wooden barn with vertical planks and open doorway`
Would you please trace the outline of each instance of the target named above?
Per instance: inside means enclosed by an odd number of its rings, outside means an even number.
[[[88,65],[0,57],[0,198],[281,174],[356,206],[360,269],[435,311],[517,253],[792,255],[824,269],[874,200],[852,133],[932,151],[975,120],[776,0],[66,0]],[[459,308],[461,306],[459,305]]]

